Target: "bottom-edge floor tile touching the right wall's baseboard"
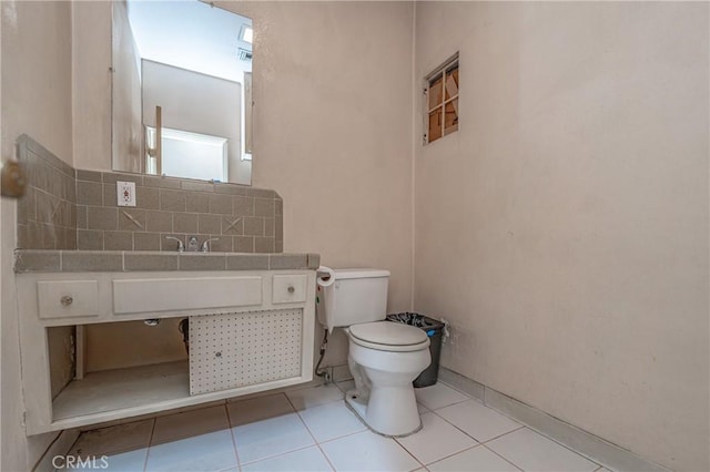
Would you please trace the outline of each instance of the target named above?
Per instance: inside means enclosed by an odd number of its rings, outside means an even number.
[[[599,466],[528,428],[487,442],[486,447],[529,472],[594,471]]]

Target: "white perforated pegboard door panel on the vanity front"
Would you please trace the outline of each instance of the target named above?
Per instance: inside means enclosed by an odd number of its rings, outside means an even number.
[[[303,309],[190,317],[190,394],[301,376]]]

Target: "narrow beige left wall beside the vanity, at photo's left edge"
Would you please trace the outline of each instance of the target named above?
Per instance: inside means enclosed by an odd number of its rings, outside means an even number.
[[[71,4],[3,1],[2,158],[14,156],[14,142],[31,134],[68,163],[72,162]],[[51,81],[48,81],[51,78]],[[2,447],[0,470],[31,468],[55,437],[27,439],[20,383],[18,314],[12,274],[16,203],[2,198],[0,275]]]

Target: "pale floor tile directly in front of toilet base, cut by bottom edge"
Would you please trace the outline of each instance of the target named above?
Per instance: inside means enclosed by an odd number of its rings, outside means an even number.
[[[324,442],[321,449],[338,472],[398,472],[413,471],[422,466],[395,440],[369,431]]]

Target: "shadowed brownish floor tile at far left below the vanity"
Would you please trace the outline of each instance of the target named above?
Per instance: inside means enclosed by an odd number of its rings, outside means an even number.
[[[81,433],[68,455],[110,455],[148,448],[153,420],[135,421]]]

